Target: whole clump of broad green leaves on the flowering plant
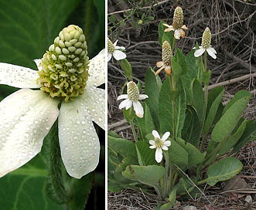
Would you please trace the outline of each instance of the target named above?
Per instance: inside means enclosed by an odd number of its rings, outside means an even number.
[[[159,44],[168,41],[175,46],[172,36],[160,22]],[[241,117],[251,93],[241,90],[224,106],[224,87],[207,89],[206,59],[195,57],[195,50],[187,55],[172,51],[172,73],[163,82],[154,69],[145,73],[144,117],[130,119],[138,128],[135,141],[108,132],[108,190],[154,189],[163,199],[159,209],[172,208],[177,195],[200,195],[205,184],[213,186],[234,177],[243,165],[231,155],[256,139],[256,120]],[[152,130],[161,136],[170,132],[171,145],[162,151],[160,163],[149,148]]]

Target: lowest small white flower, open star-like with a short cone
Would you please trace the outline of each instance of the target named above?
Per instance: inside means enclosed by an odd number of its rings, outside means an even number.
[[[162,150],[168,151],[168,147],[171,145],[171,141],[166,141],[166,139],[169,137],[170,132],[166,132],[163,134],[162,138],[160,137],[159,133],[156,130],[152,131],[153,136],[155,137],[154,140],[149,140],[149,144],[152,146],[149,146],[151,149],[155,149],[155,161],[160,163],[162,161]]]

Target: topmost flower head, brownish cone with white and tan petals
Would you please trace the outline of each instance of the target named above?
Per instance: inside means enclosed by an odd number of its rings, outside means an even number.
[[[173,21],[172,25],[168,25],[166,23],[163,23],[162,25],[165,25],[168,27],[165,29],[165,32],[174,31],[174,38],[180,39],[180,37],[184,38],[186,36],[186,33],[183,29],[188,29],[186,25],[183,25],[183,9],[181,7],[176,7],[173,15]]]

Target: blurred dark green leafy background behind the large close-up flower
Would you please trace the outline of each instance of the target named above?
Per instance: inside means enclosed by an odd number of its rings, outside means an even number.
[[[104,15],[104,0],[0,0],[0,62],[36,69],[33,59],[42,58],[59,32],[70,24],[84,30],[91,59],[104,49]],[[0,85],[0,100],[15,90]],[[104,198],[104,131],[97,130],[101,160],[85,209],[97,209]],[[39,154],[24,167],[0,178],[0,209],[67,209],[46,198],[46,173]],[[97,200],[99,195],[101,202]]]

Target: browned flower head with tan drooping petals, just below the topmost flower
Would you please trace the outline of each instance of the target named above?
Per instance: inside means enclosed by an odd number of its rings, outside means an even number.
[[[156,66],[159,67],[155,73],[155,76],[157,76],[162,69],[165,69],[166,73],[168,75],[171,75],[172,73],[172,67],[171,67],[171,62],[172,62],[172,48],[169,44],[168,41],[164,41],[162,43],[162,61],[159,61],[156,63]]]

